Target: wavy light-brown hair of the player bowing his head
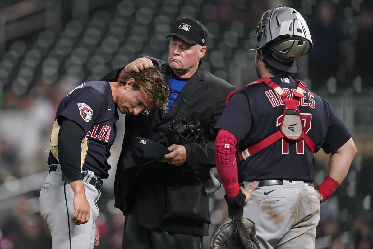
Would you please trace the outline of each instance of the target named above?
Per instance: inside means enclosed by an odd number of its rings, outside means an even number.
[[[134,90],[140,90],[144,94],[145,99],[154,102],[157,108],[163,113],[166,113],[169,88],[163,75],[158,68],[151,67],[140,72],[129,72],[119,77],[118,82],[125,85],[129,79],[134,79],[132,84]]]

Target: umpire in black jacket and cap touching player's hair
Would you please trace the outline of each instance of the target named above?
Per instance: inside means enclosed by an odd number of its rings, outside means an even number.
[[[115,206],[126,217],[123,248],[202,248],[208,234],[209,200],[196,171],[215,167],[213,128],[235,88],[208,72],[201,58],[206,53],[207,28],[192,19],[175,23],[168,62],[139,58],[103,78],[111,81],[128,71],[149,66],[161,69],[169,83],[166,115],[159,110],[126,115],[126,131],[115,178]],[[196,119],[206,130],[207,141],[168,144],[169,154],[146,168],[135,164],[135,137],[164,140],[173,121]]]

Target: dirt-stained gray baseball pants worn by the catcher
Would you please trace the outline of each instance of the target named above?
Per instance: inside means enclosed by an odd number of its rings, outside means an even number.
[[[261,249],[314,249],[320,201],[303,181],[257,187],[245,203],[243,217],[255,223]],[[244,182],[249,189],[252,182]]]

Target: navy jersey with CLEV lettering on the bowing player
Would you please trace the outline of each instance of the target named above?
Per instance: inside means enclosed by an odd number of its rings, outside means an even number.
[[[56,112],[59,124],[62,117],[79,124],[88,137],[88,152],[83,170],[91,170],[106,179],[111,166],[107,163],[110,147],[116,136],[119,115],[110,84],[106,81],[85,82],[64,97]],[[58,163],[49,154],[48,164]]]

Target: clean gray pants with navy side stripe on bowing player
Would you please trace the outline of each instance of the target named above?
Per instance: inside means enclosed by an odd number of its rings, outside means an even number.
[[[100,190],[88,182],[94,176],[92,171],[83,179],[85,195],[90,203],[90,220],[85,224],[71,222],[74,214],[74,193],[68,182],[62,181],[60,165],[57,171],[50,172],[40,191],[40,212],[46,221],[52,236],[52,249],[93,249],[98,217],[97,200]]]

